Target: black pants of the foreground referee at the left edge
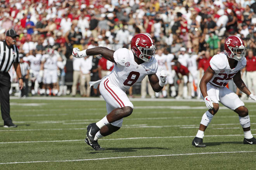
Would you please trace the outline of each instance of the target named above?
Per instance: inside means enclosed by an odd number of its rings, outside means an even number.
[[[5,123],[11,123],[10,118],[10,75],[8,72],[0,73],[0,104],[1,114]]]

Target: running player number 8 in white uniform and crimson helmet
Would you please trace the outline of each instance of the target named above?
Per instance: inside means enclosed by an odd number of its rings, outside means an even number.
[[[98,85],[102,97],[106,101],[107,116],[99,122],[89,124],[85,142],[94,150],[104,150],[98,144],[98,139],[107,136],[121,128],[123,118],[130,116],[133,104],[125,91],[134,83],[141,82],[146,75],[155,92],[159,92],[165,85],[167,73],[162,70],[160,80],[157,78],[158,68],[155,57],[155,44],[147,34],[137,34],[131,39],[131,50],[120,48],[116,51],[104,47],[95,47],[79,51],[73,49],[76,58],[102,55],[114,63],[111,73],[90,85],[97,88]]]

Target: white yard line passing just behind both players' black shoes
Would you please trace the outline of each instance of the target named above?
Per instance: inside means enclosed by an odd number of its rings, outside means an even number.
[[[253,134],[256,135],[256,134]],[[244,134],[225,134],[225,135],[205,135],[204,137],[219,137],[219,136],[244,136]],[[137,137],[137,138],[117,138],[117,139],[99,139],[100,141],[109,140],[128,140],[128,139],[162,139],[162,138],[194,138],[195,136],[159,136],[159,137]],[[84,139],[74,140],[57,140],[57,141],[19,141],[19,142],[0,142],[0,144],[6,143],[43,143],[43,142],[72,142],[72,141],[84,141]]]

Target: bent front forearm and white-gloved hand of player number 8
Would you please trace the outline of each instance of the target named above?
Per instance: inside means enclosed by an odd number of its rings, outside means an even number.
[[[148,75],[149,76],[149,82],[151,87],[155,92],[160,92],[166,82],[167,72],[165,70],[161,70],[160,72],[160,80],[158,79],[156,74]]]

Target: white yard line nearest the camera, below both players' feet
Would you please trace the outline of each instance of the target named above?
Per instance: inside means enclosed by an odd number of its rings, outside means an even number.
[[[80,159],[80,160],[55,160],[55,161],[6,162],[6,163],[0,163],[0,164],[17,164],[17,163],[46,163],[46,162],[77,162],[77,161],[108,160],[108,159],[121,159],[121,158],[148,158],[148,157],[161,157],[161,156],[206,155],[206,154],[221,154],[221,153],[254,153],[254,152],[256,152],[256,151],[180,153],[180,154],[171,154],[171,155],[120,156],[120,157],[110,157],[110,158],[92,158],[92,159]]]

